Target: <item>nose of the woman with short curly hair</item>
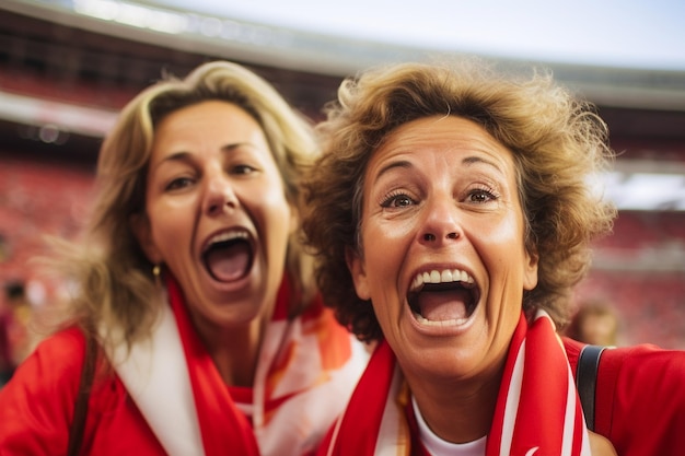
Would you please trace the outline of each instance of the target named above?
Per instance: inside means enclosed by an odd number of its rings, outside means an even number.
[[[433,198],[425,206],[426,217],[420,231],[421,244],[440,246],[462,235],[458,208],[451,196]]]

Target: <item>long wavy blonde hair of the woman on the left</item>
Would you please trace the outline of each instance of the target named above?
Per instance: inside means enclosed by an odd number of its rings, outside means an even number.
[[[100,151],[97,194],[83,238],[59,242],[59,259],[47,261],[77,284],[78,292],[69,302],[71,321],[84,328],[121,328],[129,346],[149,334],[162,293],[152,273],[154,265],[141,250],[130,220],[146,210],[146,178],[156,125],[175,110],[209,100],[232,103],[259,124],[282,175],[286,197],[299,210],[299,179],[317,150],[310,121],[268,82],[232,62],[201,65],[183,80],[165,77],[123,109]],[[294,315],[315,293],[313,261],[298,233],[289,239],[286,262]]]

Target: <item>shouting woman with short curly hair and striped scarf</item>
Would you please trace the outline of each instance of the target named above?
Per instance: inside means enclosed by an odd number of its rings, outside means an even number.
[[[320,454],[685,449],[684,353],[606,350],[581,407],[584,346],[557,335],[615,217],[593,184],[613,153],[590,104],[547,73],[403,63],[346,80],[317,128],[317,281],[379,341]]]

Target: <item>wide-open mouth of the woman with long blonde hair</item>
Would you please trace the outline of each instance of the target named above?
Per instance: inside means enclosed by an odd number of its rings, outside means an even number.
[[[213,236],[202,250],[202,262],[209,274],[219,282],[242,279],[252,268],[254,248],[249,233],[232,230]]]

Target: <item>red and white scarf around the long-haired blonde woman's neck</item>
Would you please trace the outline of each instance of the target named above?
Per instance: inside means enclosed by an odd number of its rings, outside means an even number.
[[[321,301],[288,318],[288,281],[263,341],[248,420],[193,328],[183,294],[167,280],[149,341],[109,353],[127,390],[172,456],[312,455],[369,359]]]

